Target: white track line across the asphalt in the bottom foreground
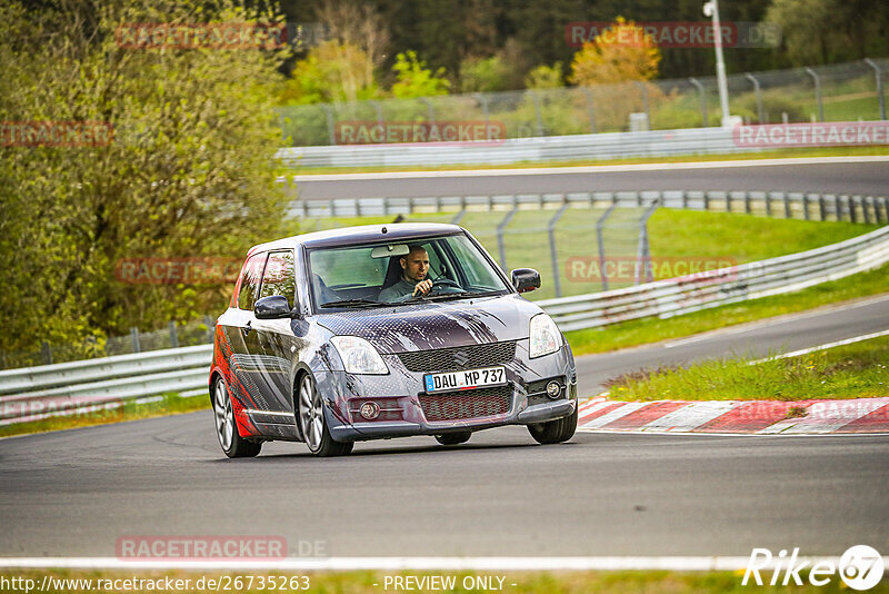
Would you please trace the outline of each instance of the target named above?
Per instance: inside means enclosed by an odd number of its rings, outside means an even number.
[[[219,570],[219,571],[679,571],[733,572],[746,570],[749,557],[731,556],[611,556],[611,557],[288,557],[263,561],[132,561],[116,557],[6,557],[2,568],[77,570]],[[783,563],[783,560],[780,560]],[[839,557],[798,557],[799,562]],[[883,557],[889,564],[889,557]],[[775,562],[763,568],[775,568]]]

